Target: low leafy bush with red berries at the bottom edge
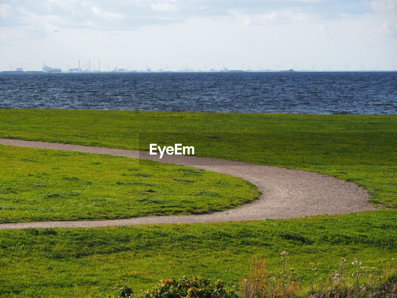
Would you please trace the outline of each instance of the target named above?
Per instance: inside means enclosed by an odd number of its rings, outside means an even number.
[[[162,279],[152,290],[144,293],[134,294],[128,286],[118,290],[121,298],[239,298],[233,291],[227,291],[220,281],[210,283],[208,279],[183,277],[175,279]]]

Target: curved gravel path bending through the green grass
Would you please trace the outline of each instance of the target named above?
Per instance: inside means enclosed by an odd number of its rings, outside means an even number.
[[[0,139],[2,145],[59,149],[150,159],[162,163],[202,168],[243,178],[262,195],[252,203],[222,212],[202,215],[146,216],[99,221],[46,221],[0,224],[8,228],[100,227],[160,223],[212,223],[264,219],[286,219],[308,215],[343,214],[374,209],[367,204],[370,195],[357,185],[327,175],[276,166],[251,164],[188,155],[149,155],[145,151],[91,147],[40,141]]]

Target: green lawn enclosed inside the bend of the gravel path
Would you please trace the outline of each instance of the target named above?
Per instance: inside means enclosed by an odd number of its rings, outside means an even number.
[[[198,214],[258,195],[241,178],[196,168],[0,145],[0,223]]]

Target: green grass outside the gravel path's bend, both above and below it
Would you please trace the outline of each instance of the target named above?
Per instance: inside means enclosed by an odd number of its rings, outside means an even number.
[[[310,263],[324,277],[341,257],[379,268],[397,257],[397,116],[0,110],[0,137],[129,149],[147,149],[149,141],[184,143],[201,156],[345,179],[383,205],[290,220],[3,230],[5,297],[106,297],[114,286],[146,289],[172,275],[235,285],[251,257],[266,256],[272,269],[284,250],[307,287]]]

